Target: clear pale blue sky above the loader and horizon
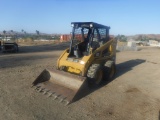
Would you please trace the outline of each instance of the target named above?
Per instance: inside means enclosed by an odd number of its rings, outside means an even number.
[[[0,0],[0,31],[69,34],[71,22],[110,26],[112,35],[160,34],[160,0]]]

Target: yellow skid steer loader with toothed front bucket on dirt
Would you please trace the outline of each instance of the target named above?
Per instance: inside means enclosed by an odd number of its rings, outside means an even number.
[[[56,68],[45,69],[32,83],[35,90],[66,105],[115,74],[116,40],[110,27],[94,22],[72,22],[72,37],[57,60]]]

